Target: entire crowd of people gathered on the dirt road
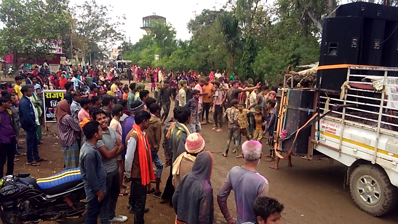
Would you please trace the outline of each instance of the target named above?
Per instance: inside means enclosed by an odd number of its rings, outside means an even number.
[[[86,223],[97,223],[98,217],[102,224],[127,221],[127,216],[116,214],[115,208],[119,196],[129,196],[134,222],[143,224],[144,213],[149,211],[145,207],[147,195],[169,203],[178,224],[213,223],[213,155],[205,150],[199,132],[208,124],[214,125],[215,132],[223,132],[223,123],[228,128],[223,156],[228,156],[232,139],[236,157],[244,158],[244,165],[230,170],[217,194],[224,218],[231,224],[280,223],[283,205],[267,197],[268,181],[257,172],[263,136],[270,148],[268,161],[275,160],[272,143],[277,88],[269,91],[268,86],[254,85],[251,79],[240,81],[235,73],[228,77],[226,71],[205,76],[192,70],[166,74],[148,68],[152,98],[142,83],[145,78],[136,76],[131,83],[133,68],[129,69],[129,85],[121,83],[112,68],[109,79],[106,73],[91,67],[90,81],[87,68],[84,72],[78,69],[66,78],[72,79],[58,86],[65,90],[55,110],[64,167],[80,167],[87,196]],[[41,126],[45,127],[41,92],[55,88],[57,79],[65,79],[67,74],[60,69],[59,74],[45,75],[43,82],[38,70],[24,86],[23,77],[18,76],[13,89],[1,92],[0,177],[6,160],[6,175],[12,175],[15,156],[23,155],[16,141],[20,128],[25,130],[28,164],[38,166],[47,161],[38,152]],[[79,91],[84,84],[90,89],[88,95]],[[173,116],[167,120],[173,101]],[[214,122],[209,120],[211,111]],[[247,141],[241,145],[242,136]],[[161,146],[164,163],[158,155]],[[162,192],[160,182],[166,167],[170,167],[170,174]],[[277,163],[271,168],[277,169]],[[236,218],[227,206],[231,190]]]

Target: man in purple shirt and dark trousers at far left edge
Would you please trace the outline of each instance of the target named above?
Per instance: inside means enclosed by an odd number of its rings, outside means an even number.
[[[7,173],[14,173],[15,149],[17,147],[14,123],[11,116],[11,100],[8,96],[0,97],[0,178],[4,175],[4,165],[7,159]]]

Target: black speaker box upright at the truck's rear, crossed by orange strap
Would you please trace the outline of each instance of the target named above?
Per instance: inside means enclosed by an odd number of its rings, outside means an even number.
[[[312,109],[314,106],[315,92],[308,89],[289,89],[288,90],[288,108],[286,110],[285,121],[283,129],[287,131],[289,136],[301,128],[311,117],[312,114],[308,114],[308,109]],[[292,154],[293,155],[305,155],[308,150],[308,137],[311,135],[311,128],[302,129],[297,136],[295,143],[293,140],[295,136],[292,136],[288,140],[282,142],[282,151],[289,151],[293,144]]]

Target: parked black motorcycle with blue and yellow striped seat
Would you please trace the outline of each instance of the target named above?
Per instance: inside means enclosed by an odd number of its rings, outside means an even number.
[[[51,177],[30,174],[0,179],[0,217],[4,224],[55,221],[81,224],[86,220],[86,193],[80,169],[68,169]]]

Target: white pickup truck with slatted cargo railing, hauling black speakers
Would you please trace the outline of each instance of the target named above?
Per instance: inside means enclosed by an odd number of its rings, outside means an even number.
[[[360,71],[369,70],[384,72],[384,77],[361,75]],[[319,106],[321,114],[334,104],[356,106],[330,111],[316,122],[308,147],[307,159],[315,149],[347,166],[351,196],[358,208],[372,216],[392,212],[398,203],[396,72],[396,68],[349,67],[346,84],[353,85],[341,96],[321,93]],[[375,89],[357,87],[361,85]],[[330,106],[325,110],[325,105]]]

